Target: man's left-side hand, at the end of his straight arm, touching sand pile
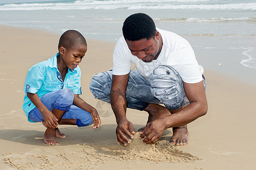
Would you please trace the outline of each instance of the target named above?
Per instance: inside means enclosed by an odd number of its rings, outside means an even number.
[[[127,146],[128,143],[130,143],[130,141],[124,134],[130,137],[131,139],[134,138],[132,134],[135,134],[132,123],[127,119],[120,121],[116,128],[117,141],[123,144],[124,146]]]

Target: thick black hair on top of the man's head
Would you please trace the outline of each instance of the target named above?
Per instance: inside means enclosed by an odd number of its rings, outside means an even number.
[[[129,41],[149,40],[154,37],[156,31],[153,19],[143,13],[128,16],[123,24],[124,39]]]

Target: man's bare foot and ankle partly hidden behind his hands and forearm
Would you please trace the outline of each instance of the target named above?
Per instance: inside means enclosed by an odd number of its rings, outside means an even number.
[[[147,124],[149,122],[157,120],[158,118],[170,115],[169,109],[159,104],[150,103],[144,111],[149,113],[148,121],[146,122]],[[142,132],[144,129],[145,129],[145,126],[140,128],[138,132]]]

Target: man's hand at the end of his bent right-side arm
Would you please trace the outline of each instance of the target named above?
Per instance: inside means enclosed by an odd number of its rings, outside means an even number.
[[[143,142],[146,144],[153,144],[161,138],[163,131],[165,130],[165,125],[163,121],[160,119],[154,120],[146,124],[145,129],[141,132],[140,137],[146,137]]]

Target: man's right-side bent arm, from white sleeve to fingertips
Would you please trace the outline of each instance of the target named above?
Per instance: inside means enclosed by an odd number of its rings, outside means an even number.
[[[163,130],[186,125],[207,113],[208,107],[203,81],[199,83],[183,82],[183,88],[190,104],[177,113],[147,124],[145,130],[140,135],[141,138],[148,135],[143,142],[155,143],[161,137]]]

